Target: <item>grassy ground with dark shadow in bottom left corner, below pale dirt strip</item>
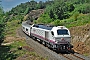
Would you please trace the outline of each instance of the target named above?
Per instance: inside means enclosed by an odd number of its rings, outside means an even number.
[[[22,46],[23,49],[19,50],[18,47]],[[26,47],[26,48],[24,48]],[[29,49],[29,50],[28,50]],[[23,58],[24,57],[24,58]],[[26,60],[46,60],[43,57],[38,56],[32,48],[30,48],[24,40],[14,41],[10,45],[0,46],[0,60],[14,60],[14,59],[26,59]]]

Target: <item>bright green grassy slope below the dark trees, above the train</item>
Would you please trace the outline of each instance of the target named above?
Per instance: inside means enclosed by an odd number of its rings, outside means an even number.
[[[34,21],[34,22],[52,24],[56,26],[65,25],[66,27],[75,27],[75,26],[85,25],[87,23],[90,24],[90,14],[75,13],[70,18],[64,19],[64,20],[50,19],[48,14],[43,14],[37,21]]]

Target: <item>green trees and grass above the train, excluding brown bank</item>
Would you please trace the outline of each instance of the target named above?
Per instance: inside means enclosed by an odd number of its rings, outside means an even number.
[[[89,0],[54,0],[35,23],[80,26],[90,23]]]

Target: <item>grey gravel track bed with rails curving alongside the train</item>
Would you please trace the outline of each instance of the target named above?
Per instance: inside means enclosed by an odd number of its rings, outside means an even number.
[[[22,32],[21,28],[18,29],[18,34],[21,37],[28,37],[27,35],[25,35]],[[38,54],[42,55],[43,57],[49,57],[49,60],[90,60],[90,58],[79,55],[77,53],[75,53],[75,54],[61,54],[61,53],[59,53],[59,55],[58,55],[56,52],[50,51],[50,49],[44,47],[43,45],[41,45],[37,42],[35,42],[34,40],[29,40],[29,39],[31,39],[31,38],[28,37],[28,41],[26,41],[26,42],[30,46],[34,47],[36,52],[38,52]]]

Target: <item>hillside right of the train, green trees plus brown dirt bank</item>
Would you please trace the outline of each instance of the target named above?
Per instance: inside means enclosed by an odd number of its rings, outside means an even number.
[[[34,23],[68,27],[73,49],[90,56],[90,0],[54,0]]]

